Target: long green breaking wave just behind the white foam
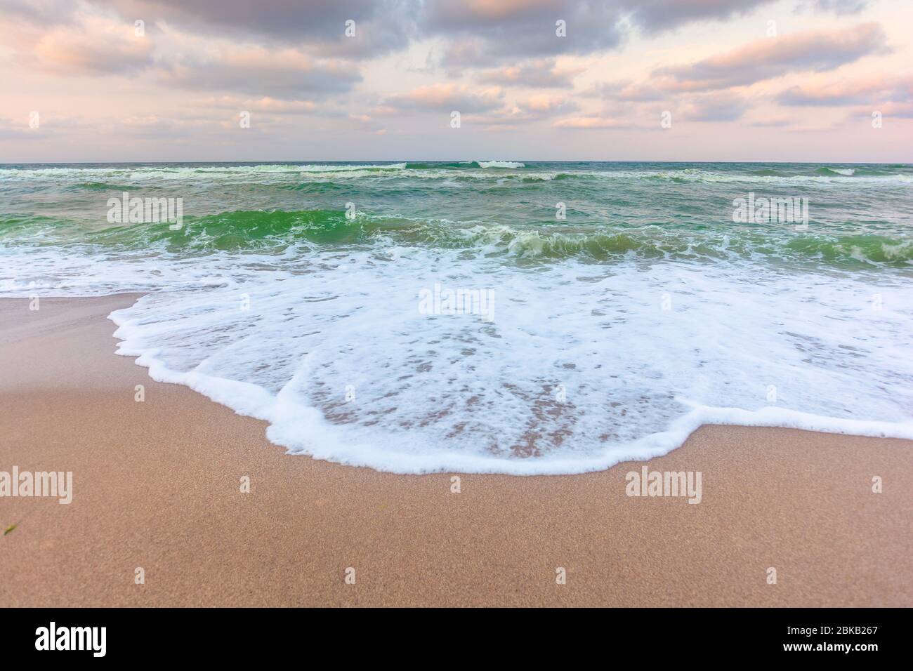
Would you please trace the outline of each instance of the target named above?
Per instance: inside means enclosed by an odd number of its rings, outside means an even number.
[[[306,243],[313,246],[422,246],[463,249],[489,257],[561,261],[613,261],[623,258],[738,260],[755,257],[825,267],[908,267],[913,240],[877,233],[833,235],[809,231],[781,235],[750,227],[711,235],[703,229],[660,225],[504,225],[440,218],[372,215],[344,210],[236,210],[217,215],[185,215],[181,229],[167,223],[77,228],[50,217],[0,216],[0,237],[31,229],[60,231],[61,244],[124,249],[161,248],[172,253],[261,251]],[[47,238],[49,241],[52,238]]]

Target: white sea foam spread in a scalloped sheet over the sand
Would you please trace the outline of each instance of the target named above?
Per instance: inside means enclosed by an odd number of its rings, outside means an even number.
[[[266,420],[290,452],[400,473],[578,473],[665,454],[705,423],[913,438],[908,286],[394,256],[230,277],[223,262],[214,288],[198,268],[198,288],[112,313],[120,353]],[[440,278],[495,288],[495,321],[421,314]]]

